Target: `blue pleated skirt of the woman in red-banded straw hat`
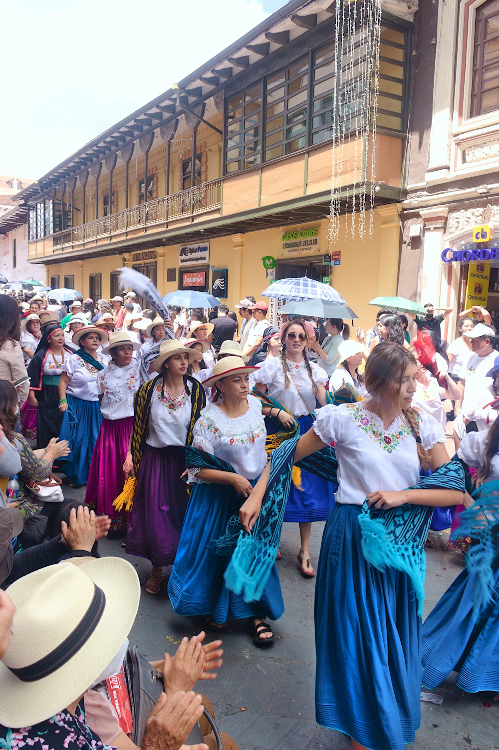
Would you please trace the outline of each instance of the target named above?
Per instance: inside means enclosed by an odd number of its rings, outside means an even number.
[[[227,589],[223,574],[230,556],[211,547],[239,514],[241,497],[226,484],[193,484],[182,526],[177,556],[168,582],[175,612],[184,616],[209,614],[214,622],[247,617],[278,619],[284,612],[279,574],[273,565],[260,601],[247,603]]]

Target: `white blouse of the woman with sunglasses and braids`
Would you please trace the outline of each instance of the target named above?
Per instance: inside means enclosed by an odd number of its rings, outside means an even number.
[[[312,381],[306,371],[304,362],[289,362],[288,366],[288,388],[285,388],[284,371],[282,369],[282,359],[280,357],[268,357],[255,371],[256,383],[263,383],[267,386],[268,395],[282,404],[295,417],[305,416],[315,410],[315,395],[312,389]],[[324,370],[310,362],[312,377],[318,386],[325,386],[329,378]],[[301,397],[300,398],[300,394]],[[303,404],[303,400],[306,403]]]

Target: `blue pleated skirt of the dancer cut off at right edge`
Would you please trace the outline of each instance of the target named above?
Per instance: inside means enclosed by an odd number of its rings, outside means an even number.
[[[467,693],[499,691],[499,571],[490,604],[474,613],[476,574],[464,570],[423,624],[423,685],[436,688],[453,670]]]

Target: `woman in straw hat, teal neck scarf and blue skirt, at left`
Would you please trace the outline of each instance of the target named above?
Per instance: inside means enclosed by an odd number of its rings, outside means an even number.
[[[95,442],[102,425],[102,414],[94,385],[97,374],[106,367],[108,358],[98,354],[109,335],[96,326],[79,329],[72,339],[79,350],[64,362],[59,381],[59,411],[63,413],[61,440],[70,444],[70,455],[64,459],[63,471],[73,487],[88,481]]]

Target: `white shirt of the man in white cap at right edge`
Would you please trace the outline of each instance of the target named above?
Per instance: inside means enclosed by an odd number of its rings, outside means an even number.
[[[462,415],[466,419],[477,422],[479,430],[485,430],[488,419],[489,422],[494,422],[498,416],[497,411],[483,408],[495,399],[492,391],[494,380],[486,375],[494,367],[497,356],[499,355],[495,350],[485,357],[472,354],[468,364],[461,371],[461,378],[465,381]]]

